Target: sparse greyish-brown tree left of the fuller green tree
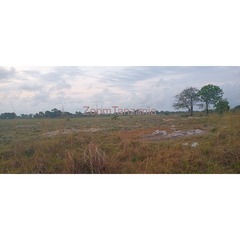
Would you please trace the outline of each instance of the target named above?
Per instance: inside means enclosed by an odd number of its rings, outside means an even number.
[[[176,102],[173,104],[175,109],[188,109],[191,116],[193,115],[193,106],[199,101],[198,89],[189,87],[176,95]]]

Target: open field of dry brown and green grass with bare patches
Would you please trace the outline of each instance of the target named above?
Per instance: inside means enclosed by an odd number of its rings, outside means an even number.
[[[240,173],[240,112],[1,120],[0,173]]]

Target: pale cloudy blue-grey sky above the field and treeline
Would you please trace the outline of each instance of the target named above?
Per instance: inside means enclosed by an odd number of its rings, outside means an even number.
[[[0,67],[0,113],[57,108],[174,110],[174,96],[187,87],[214,84],[231,107],[240,105],[240,67]]]

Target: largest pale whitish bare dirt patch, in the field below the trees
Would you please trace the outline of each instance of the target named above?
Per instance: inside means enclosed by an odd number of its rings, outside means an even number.
[[[152,134],[144,135],[142,138],[151,141],[160,141],[174,138],[182,138],[186,136],[200,135],[205,132],[201,129],[194,129],[189,131],[173,131],[172,133],[167,133],[166,131],[156,130]]]

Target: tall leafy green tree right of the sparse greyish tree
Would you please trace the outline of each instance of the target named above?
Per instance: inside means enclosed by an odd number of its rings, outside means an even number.
[[[223,90],[215,85],[209,84],[199,91],[199,97],[202,102],[205,103],[206,113],[208,114],[209,106],[212,104],[216,107],[216,104],[222,100]]]

